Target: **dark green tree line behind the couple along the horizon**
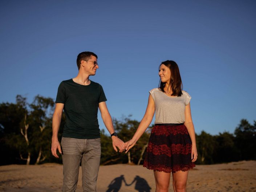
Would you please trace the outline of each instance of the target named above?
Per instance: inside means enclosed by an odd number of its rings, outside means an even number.
[[[61,156],[54,158],[50,151],[53,111],[53,99],[40,95],[34,97],[32,103],[17,95],[16,103],[0,104],[0,165],[62,162]],[[64,124],[65,114],[62,115],[59,141]],[[129,115],[122,119],[113,118],[113,124],[118,137],[127,141],[132,138],[139,122]],[[101,164],[143,164],[152,127],[146,130],[127,154],[115,152],[109,133],[101,130]],[[256,160],[256,121],[250,124],[248,120],[241,119],[234,133],[211,135],[202,131],[196,134],[196,146],[196,164]]]

